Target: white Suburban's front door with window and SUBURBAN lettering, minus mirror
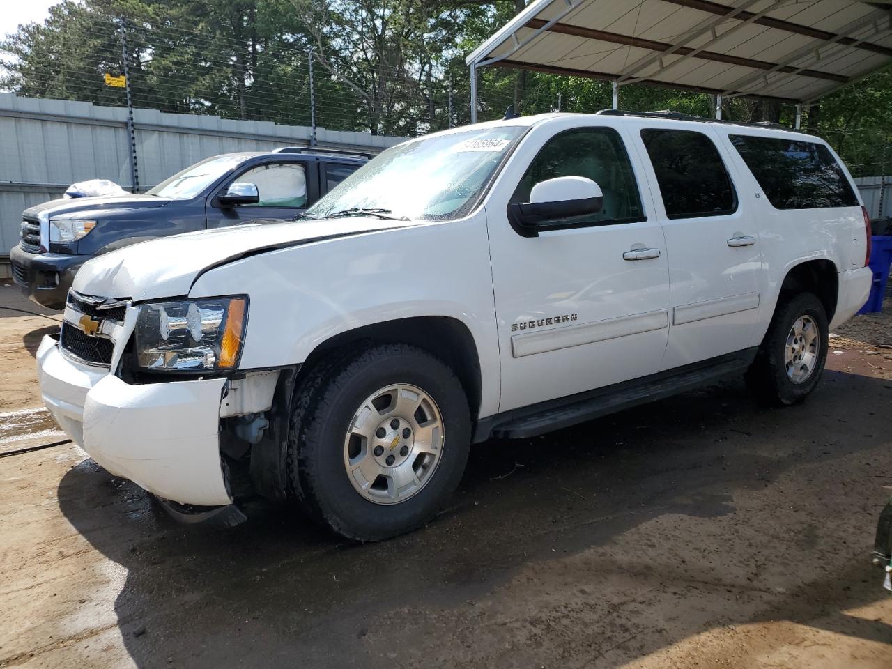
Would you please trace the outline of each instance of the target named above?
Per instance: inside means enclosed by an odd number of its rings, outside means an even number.
[[[487,202],[502,411],[652,374],[665,351],[663,231],[624,136],[578,122],[535,128]],[[602,211],[536,237],[518,234],[508,203],[569,176],[600,186]]]

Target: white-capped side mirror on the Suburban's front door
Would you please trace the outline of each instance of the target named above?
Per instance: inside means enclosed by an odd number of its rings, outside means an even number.
[[[566,219],[597,214],[603,207],[604,194],[590,178],[558,177],[533,186],[530,202],[509,204],[508,220],[519,235],[536,237],[541,228],[564,227]]]

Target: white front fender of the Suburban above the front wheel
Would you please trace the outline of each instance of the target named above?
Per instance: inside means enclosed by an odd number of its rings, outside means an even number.
[[[329,239],[235,260],[190,297],[248,294],[242,368],[301,364],[335,335],[400,318],[455,318],[480,359],[481,413],[499,403],[489,243],[483,214]]]

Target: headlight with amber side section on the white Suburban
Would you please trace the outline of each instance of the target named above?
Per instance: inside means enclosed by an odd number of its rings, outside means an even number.
[[[136,319],[136,364],[151,371],[234,369],[247,322],[246,297],[144,304]]]

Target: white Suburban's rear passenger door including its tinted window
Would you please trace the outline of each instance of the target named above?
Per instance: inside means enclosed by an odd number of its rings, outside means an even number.
[[[648,127],[638,133],[665,231],[672,288],[663,367],[758,344],[764,270],[754,212],[739,202],[735,163],[712,128]]]

